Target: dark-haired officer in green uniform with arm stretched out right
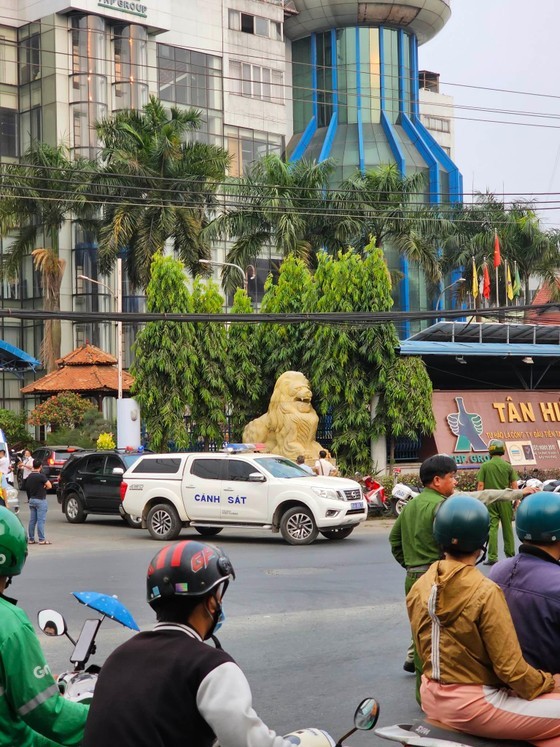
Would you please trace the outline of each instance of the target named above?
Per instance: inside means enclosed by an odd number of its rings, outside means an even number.
[[[416,581],[430,565],[440,559],[441,550],[433,536],[434,517],[438,506],[455,492],[457,464],[447,454],[436,454],[426,459],[420,467],[422,492],[404,507],[389,534],[391,552],[395,560],[406,569],[405,592],[408,594]],[[505,504],[511,506],[524,495],[534,493],[534,488],[524,490],[483,490],[463,492],[462,495],[477,498],[487,506]],[[413,658],[414,656],[414,658]],[[420,660],[411,646],[403,669],[416,672],[417,700],[420,702]]]

